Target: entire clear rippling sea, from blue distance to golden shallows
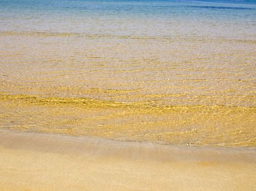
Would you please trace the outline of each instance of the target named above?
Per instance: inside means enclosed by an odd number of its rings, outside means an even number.
[[[0,128],[256,146],[256,1],[0,0]]]

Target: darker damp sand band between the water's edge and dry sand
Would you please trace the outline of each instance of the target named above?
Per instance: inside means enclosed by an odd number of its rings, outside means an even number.
[[[52,153],[63,152],[70,154],[98,154],[98,157],[115,156],[124,159],[151,159],[160,161],[172,161],[176,159],[177,157],[173,157],[173,153],[175,152],[179,152],[179,154],[194,154],[194,159],[197,160],[220,160],[222,154],[232,155],[236,153],[248,154],[248,156],[246,155],[246,157],[242,159],[248,160],[248,162],[254,160],[256,163],[256,156],[253,157],[253,155],[256,154],[256,147],[252,146],[225,147],[215,145],[168,145],[156,142],[118,141],[93,136],[22,132],[9,129],[0,129],[0,135],[0,146],[18,150],[24,149],[43,152],[47,151]],[[15,142],[13,140],[15,140]],[[35,142],[36,145],[33,144]],[[49,145],[55,146],[49,147]],[[144,153],[141,153],[141,151],[144,151]],[[155,156],[150,156],[150,154],[153,154],[154,152],[158,152],[158,154]],[[215,154],[215,157],[211,156],[211,158],[209,158],[208,156],[204,156],[204,158],[202,158],[197,156],[197,153],[201,152]],[[137,154],[138,156],[133,158],[132,156],[134,154]],[[163,154],[165,155],[161,157]],[[183,157],[183,159],[185,158]],[[189,160],[191,160],[191,158],[189,158]],[[225,161],[226,158],[222,158],[221,160]]]

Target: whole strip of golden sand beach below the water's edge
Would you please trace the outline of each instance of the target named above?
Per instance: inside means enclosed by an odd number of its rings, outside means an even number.
[[[0,190],[255,190],[255,148],[0,130]]]

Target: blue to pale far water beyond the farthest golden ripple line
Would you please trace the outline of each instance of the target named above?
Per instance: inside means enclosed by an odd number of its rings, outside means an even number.
[[[256,1],[0,1],[0,31],[255,38]],[[204,27],[203,27],[204,26]],[[236,37],[234,37],[236,30]]]

